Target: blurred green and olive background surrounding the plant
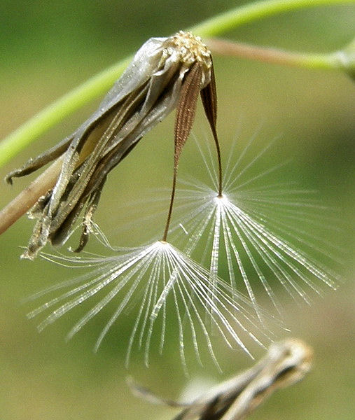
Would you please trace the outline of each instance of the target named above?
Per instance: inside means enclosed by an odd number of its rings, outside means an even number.
[[[0,137],[71,88],[137,50],[147,38],[167,36],[238,3],[246,2],[1,1]],[[284,13],[240,27],[225,37],[288,50],[328,52],[349,43],[354,27],[354,5],[329,6]],[[337,207],[330,216],[335,216],[338,222],[334,223],[341,229],[326,230],[324,226],[323,232],[328,241],[340,244],[343,250],[340,274],[344,283],[340,290],[329,291],[310,308],[290,305],[286,314],[292,335],[314,347],[314,370],[302,383],[274,395],[250,418],[353,419],[355,86],[337,71],[295,69],[226,57],[215,57],[214,61],[223,150],[228,150],[238,129],[237,141],[244,144],[261,127],[260,148],[264,142],[281,136],[268,153],[270,165],[275,160],[292,158],[291,169],[284,169],[284,176],[304,188],[319,190],[326,205]],[[69,134],[97,103],[81,109],[20,153],[1,169],[1,179],[30,155]],[[110,233],[114,244],[141,244],[140,228],[122,229],[130,218],[124,204],[138,200],[151,186],[169,186],[173,124],[170,116],[155,127],[106,183],[96,221]],[[200,139],[208,132],[202,113],[197,116],[194,132]],[[189,168],[190,173],[194,172],[193,158],[193,148],[188,146],[181,172]],[[2,184],[1,206],[27,182],[16,180],[13,187]],[[129,316],[113,329],[117,336],[111,333],[96,354],[92,346],[104,322],[100,316],[69,343],[64,342],[64,335],[74,323],[71,314],[39,335],[35,322],[27,321],[28,307],[20,304],[21,300],[73,274],[40,259],[19,259],[19,246],[27,244],[31,229],[32,222],[22,218],[0,238],[1,420],[171,419],[173,409],[151,406],[131,395],[125,385],[128,373],[167,398],[179,398],[190,381],[214,384],[251,364],[241,352],[226,351],[223,374],[207,362],[203,368],[191,367],[188,379],[176,349],[167,346],[162,357],[153,355],[149,369],[137,357],[127,371],[124,358],[132,328]],[[144,230],[154,233],[157,229],[160,226],[152,224]],[[95,250],[95,244],[90,246]],[[260,349],[252,350],[256,357],[263,354]]]

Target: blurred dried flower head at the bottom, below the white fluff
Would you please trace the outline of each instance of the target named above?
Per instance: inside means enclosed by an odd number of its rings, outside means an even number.
[[[134,394],[153,404],[184,407],[174,420],[242,420],[274,391],[300,381],[309,372],[312,349],[299,339],[270,346],[266,356],[249,370],[214,386],[190,403],[165,400],[128,381]]]

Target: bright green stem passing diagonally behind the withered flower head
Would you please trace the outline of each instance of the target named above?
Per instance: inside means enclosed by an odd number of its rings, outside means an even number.
[[[266,18],[277,13],[306,8],[311,6],[332,5],[340,3],[355,3],[355,0],[267,0],[237,7],[214,18],[190,28],[194,34],[211,37],[222,34],[244,23]],[[11,160],[23,148],[53,127],[65,117],[90,102],[95,97],[106,92],[132,57],[120,60],[117,64],[97,74],[87,82],[76,87],[64,97],[43,109],[36,116],[10,134],[0,144],[0,167]]]

